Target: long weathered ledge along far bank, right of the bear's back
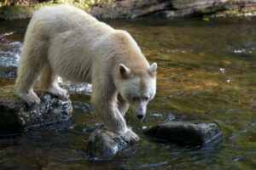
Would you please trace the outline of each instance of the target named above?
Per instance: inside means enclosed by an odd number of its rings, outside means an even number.
[[[138,18],[148,15],[183,17],[188,15],[239,16],[256,15],[256,3],[251,0],[130,0],[102,3],[87,10],[99,18]]]

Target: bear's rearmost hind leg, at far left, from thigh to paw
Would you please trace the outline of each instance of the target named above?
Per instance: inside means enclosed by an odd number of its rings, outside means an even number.
[[[26,37],[20,57],[20,64],[15,81],[15,94],[27,105],[39,104],[40,99],[33,91],[33,86],[46,62],[45,43],[33,37]]]

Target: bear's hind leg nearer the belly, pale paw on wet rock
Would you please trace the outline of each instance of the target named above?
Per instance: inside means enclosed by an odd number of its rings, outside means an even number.
[[[61,99],[68,99],[67,90],[60,88],[57,76],[53,73],[49,64],[44,67],[39,80],[40,88],[48,94],[52,94]]]

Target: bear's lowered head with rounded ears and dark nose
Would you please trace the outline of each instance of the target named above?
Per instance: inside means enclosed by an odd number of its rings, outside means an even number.
[[[119,65],[119,94],[129,103],[138,119],[146,116],[148,102],[154,98],[156,69],[156,63],[139,71],[131,71],[127,66]]]

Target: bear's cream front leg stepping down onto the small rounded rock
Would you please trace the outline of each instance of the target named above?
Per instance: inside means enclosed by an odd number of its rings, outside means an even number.
[[[139,140],[136,133],[127,127],[125,118],[119,112],[117,106],[117,93],[112,96],[98,94],[100,91],[93,90],[91,101],[97,116],[102,120],[108,130],[119,134],[128,143],[135,143]],[[109,95],[109,94],[108,94]]]

